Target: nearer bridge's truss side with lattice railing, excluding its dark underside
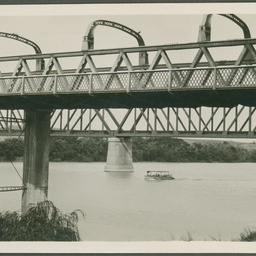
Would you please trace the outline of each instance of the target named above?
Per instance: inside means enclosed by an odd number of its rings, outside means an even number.
[[[43,54],[47,61],[39,74],[30,67],[31,60],[38,56],[21,56],[17,60],[14,58],[17,65],[11,76],[10,73],[1,74],[0,93],[56,94],[252,87],[256,81],[254,44],[255,39],[248,39]],[[142,49],[149,52],[149,65],[138,66],[137,56],[134,55],[138,55]],[[225,55],[230,49],[233,59],[227,61],[228,55],[226,59]],[[179,57],[175,58],[177,53]],[[0,64],[5,65],[9,60],[13,58],[6,57],[2,61],[0,58]],[[77,68],[68,70],[70,65]],[[106,67],[102,68],[102,65]]]

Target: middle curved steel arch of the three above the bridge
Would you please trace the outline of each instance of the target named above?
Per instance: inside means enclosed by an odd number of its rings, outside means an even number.
[[[144,40],[141,37],[141,35],[138,32],[134,31],[133,29],[114,21],[96,20],[90,23],[86,31],[86,34],[83,37],[82,51],[94,49],[94,31],[97,26],[107,26],[107,27],[119,29],[133,36],[137,40],[139,46],[145,46]],[[139,65],[146,65],[146,64],[148,64],[147,52],[139,53]]]

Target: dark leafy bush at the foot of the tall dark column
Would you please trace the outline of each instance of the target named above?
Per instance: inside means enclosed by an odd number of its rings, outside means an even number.
[[[29,206],[25,214],[0,213],[0,241],[80,241],[78,212],[63,214],[52,202]]]

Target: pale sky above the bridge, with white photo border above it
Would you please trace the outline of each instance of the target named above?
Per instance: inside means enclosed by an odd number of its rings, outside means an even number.
[[[37,43],[44,53],[80,50],[88,25],[97,19],[116,21],[140,31],[146,45],[195,42],[203,14],[219,12],[237,14],[248,24],[252,37],[256,37],[256,10],[253,14],[252,8],[242,4],[223,5],[229,7],[226,12],[218,5],[207,6],[207,9],[203,4],[0,6],[0,31],[24,36]],[[213,16],[212,40],[242,36],[242,30],[230,20]],[[0,43],[0,56],[33,53],[32,48],[14,40],[0,38]],[[134,38],[121,31],[108,27],[98,27],[95,31],[97,49],[136,45]]]

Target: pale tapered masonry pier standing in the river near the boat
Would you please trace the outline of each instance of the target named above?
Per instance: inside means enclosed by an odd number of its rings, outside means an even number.
[[[133,172],[131,138],[109,138],[105,172]]]

